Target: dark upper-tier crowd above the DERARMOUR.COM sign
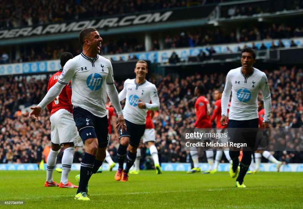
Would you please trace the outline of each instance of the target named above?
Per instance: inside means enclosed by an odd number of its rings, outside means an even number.
[[[190,0],[75,0],[72,2],[60,0],[3,0],[0,2],[0,29],[184,7],[190,2]]]

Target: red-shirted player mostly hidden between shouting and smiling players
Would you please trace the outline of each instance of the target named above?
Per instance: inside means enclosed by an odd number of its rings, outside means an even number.
[[[112,137],[112,127],[116,127],[117,122],[116,122],[116,114],[115,114],[115,108],[112,106],[112,103],[106,103],[106,113],[107,113],[107,118],[108,118],[108,141],[111,140]],[[118,139],[118,132],[114,128],[114,140]],[[106,149],[106,157],[105,160],[109,164],[108,171],[112,171],[113,168],[115,167],[116,163],[112,160],[111,155],[109,154],[108,150]],[[97,173],[102,172],[102,167],[100,167],[97,171]]]

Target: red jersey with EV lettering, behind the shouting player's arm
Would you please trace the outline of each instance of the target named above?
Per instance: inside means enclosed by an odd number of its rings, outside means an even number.
[[[56,72],[48,81],[47,91],[57,83],[58,78],[60,77],[62,72]],[[57,96],[51,103],[49,103],[46,107],[48,111],[51,113],[55,113],[60,109],[68,110],[68,112],[72,113],[72,86],[71,82],[67,86],[64,86],[59,96]]]

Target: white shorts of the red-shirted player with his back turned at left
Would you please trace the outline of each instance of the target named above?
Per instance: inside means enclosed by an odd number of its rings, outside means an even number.
[[[49,118],[51,121],[51,141],[54,144],[74,143],[77,145],[77,127],[73,114],[60,109]]]

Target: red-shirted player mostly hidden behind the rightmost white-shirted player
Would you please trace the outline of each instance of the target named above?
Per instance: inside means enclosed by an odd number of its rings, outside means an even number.
[[[265,114],[265,110],[263,107],[264,103],[262,100],[258,100],[258,115],[259,115],[259,128],[262,128],[263,118]],[[247,174],[256,174],[260,171],[260,164],[261,164],[261,158],[262,156],[265,157],[267,160],[269,160],[272,163],[275,163],[277,172],[280,171],[280,167],[282,165],[282,162],[277,160],[270,152],[264,149],[258,149],[253,153],[255,155],[255,162],[253,160],[253,156],[251,159],[251,164],[249,166],[249,171]]]

